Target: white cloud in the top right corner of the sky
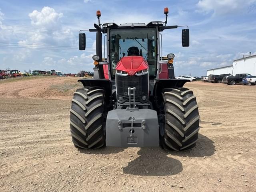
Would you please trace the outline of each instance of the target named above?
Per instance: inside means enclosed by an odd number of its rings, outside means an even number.
[[[231,12],[241,12],[249,8],[256,0],[200,0],[196,12],[223,15]]]

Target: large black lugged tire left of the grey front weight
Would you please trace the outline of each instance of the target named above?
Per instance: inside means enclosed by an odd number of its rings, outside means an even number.
[[[76,148],[96,149],[105,145],[104,117],[102,88],[76,90],[70,109],[70,132]]]

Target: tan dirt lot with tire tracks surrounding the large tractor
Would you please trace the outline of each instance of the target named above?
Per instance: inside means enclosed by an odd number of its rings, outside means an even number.
[[[256,191],[256,86],[186,84],[201,120],[193,150],[78,150],[69,127],[77,79],[0,82],[0,191]]]

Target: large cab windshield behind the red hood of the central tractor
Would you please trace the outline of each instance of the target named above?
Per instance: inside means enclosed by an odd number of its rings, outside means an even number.
[[[150,78],[156,77],[157,49],[156,29],[111,29],[110,67],[115,78],[116,64],[124,56],[142,56],[149,65]]]

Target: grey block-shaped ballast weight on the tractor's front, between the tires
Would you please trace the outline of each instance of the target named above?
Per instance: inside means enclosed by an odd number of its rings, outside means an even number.
[[[109,111],[106,120],[106,146],[159,146],[156,111],[151,109]]]

